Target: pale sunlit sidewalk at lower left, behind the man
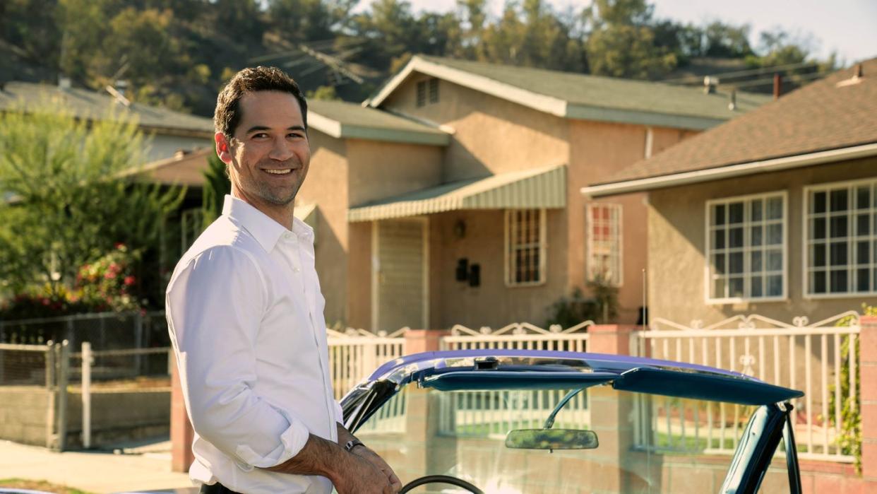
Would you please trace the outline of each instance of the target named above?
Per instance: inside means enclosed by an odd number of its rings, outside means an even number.
[[[0,479],[46,480],[96,494],[192,487],[188,474],[170,471],[169,442],[116,451],[54,453],[0,440]]]

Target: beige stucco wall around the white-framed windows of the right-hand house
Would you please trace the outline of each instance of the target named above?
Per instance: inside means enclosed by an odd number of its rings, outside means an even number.
[[[705,324],[737,314],[757,313],[792,322],[807,316],[811,322],[843,311],[857,311],[877,297],[831,299],[803,297],[803,187],[877,176],[877,159],[798,168],[711,183],[654,190],[649,195],[649,310],[650,316],[687,324]],[[704,293],[704,215],[708,199],[786,190],[788,192],[788,299],[779,302],[707,304]]]

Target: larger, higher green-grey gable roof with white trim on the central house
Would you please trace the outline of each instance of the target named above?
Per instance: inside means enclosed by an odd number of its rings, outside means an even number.
[[[704,94],[661,82],[574,74],[417,55],[363,105],[380,106],[410,75],[431,75],[562,118],[706,129],[757,108],[770,97]]]

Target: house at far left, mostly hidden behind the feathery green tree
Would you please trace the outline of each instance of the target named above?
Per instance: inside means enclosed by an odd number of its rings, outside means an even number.
[[[157,106],[132,103],[119,89],[97,92],[74,88],[61,78],[57,85],[36,82],[5,82],[0,86],[0,111],[24,104],[63,104],[77,118],[106,118],[107,111],[123,111],[137,118],[139,129],[151,139],[144,150],[146,162],[173,156],[177,151],[211,147],[213,122],[210,118],[188,115]]]

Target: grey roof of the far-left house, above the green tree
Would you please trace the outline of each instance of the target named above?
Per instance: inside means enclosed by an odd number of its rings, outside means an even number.
[[[213,120],[210,118],[146,104],[132,103],[125,107],[106,92],[80,88],[61,89],[57,85],[34,82],[6,82],[0,90],[0,111],[9,110],[18,104],[27,106],[46,100],[67,104],[76,118],[99,120],[106,117],[108,109],[116,108],[136,116],[139,126],[147,129],[197,137],[213,136]]]

